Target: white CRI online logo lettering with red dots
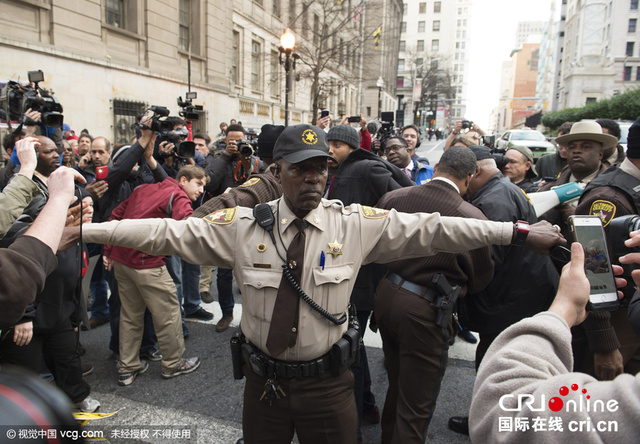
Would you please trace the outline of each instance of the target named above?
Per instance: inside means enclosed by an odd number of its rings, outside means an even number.
[[[564,399],[571,392],[582,393],[582,396],[575,399]],[[553,412],[559,412],[563,408],[566,412],[604,412],[605,409],[609,412],[615,412],[618,410],[618,401],[614,399],[608,400],[606,403],[603,400],[591,401],[591,396],[587,395],[587,389],[580,390],[578,384],[571,384],[571,390],[568,387],[562,386],[558,390],[558,393],[563,398],[554,396],[549,400],[547,404],[549,410]],[[513,407],[505,405],[505,403],[513,405],[513,400],[517,400],[517,403]],[[518,395],[503,395],[500,397],[499,406],[506,412],[519,412],[523,410],[523,407],[527,407],[532,412],[542,412],[545,410],[545,395],[540,395],[540,403],[536,403],[536,399],[533,395],[528,393],[520,393]],[[537,405],[536,405],[537,404]]]

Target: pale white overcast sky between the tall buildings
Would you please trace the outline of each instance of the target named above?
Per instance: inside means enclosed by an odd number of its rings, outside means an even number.
[[[518,22],[547,21],[552,0],[475,0],[470,20],[466,117],[487,129],[498,105],[500,67],[515,45]],[[556,15],[560,0],[556,1]]]

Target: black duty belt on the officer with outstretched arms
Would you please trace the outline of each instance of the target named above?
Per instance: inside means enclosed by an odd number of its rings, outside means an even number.
[[[250,342],[242,345],[245,364],[258,376],[272,378],[309,378],[322,376],[331,369],[331,353],[304,362],[279,361],[262,353]]]

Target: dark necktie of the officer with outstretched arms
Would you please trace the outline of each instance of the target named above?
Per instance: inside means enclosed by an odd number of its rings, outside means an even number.
[[[305,228],[309,223],[302,219],[293,221],[298,228],[298,234],[293,238],[287,249],[287,263],[291,274],[298,285],[302,285],[302,268],[304,266]],[[271,356],[282,354],[288,347],[292,347],[298,338],[298,305],[300,298],[296,290],[283,275],[278,287],[278,296],[273,307],[271,326],[267,337],[267,349]]]

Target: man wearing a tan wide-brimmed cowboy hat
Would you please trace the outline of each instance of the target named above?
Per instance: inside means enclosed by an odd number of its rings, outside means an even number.
[[[616,146],[618,140],[604,134],[600,125],[593,120],[576,122],[569,134],[556,139],[559,145],[567,147],[567,166],[556,180],[540,188],[540,191],[569,182],[588,184],[607,168],[602,164],[603,151]],[[564,235],[569,235],[567,219],[576,212],[576,201],[566,202],[544,213],[540,219],[556,224]]]

